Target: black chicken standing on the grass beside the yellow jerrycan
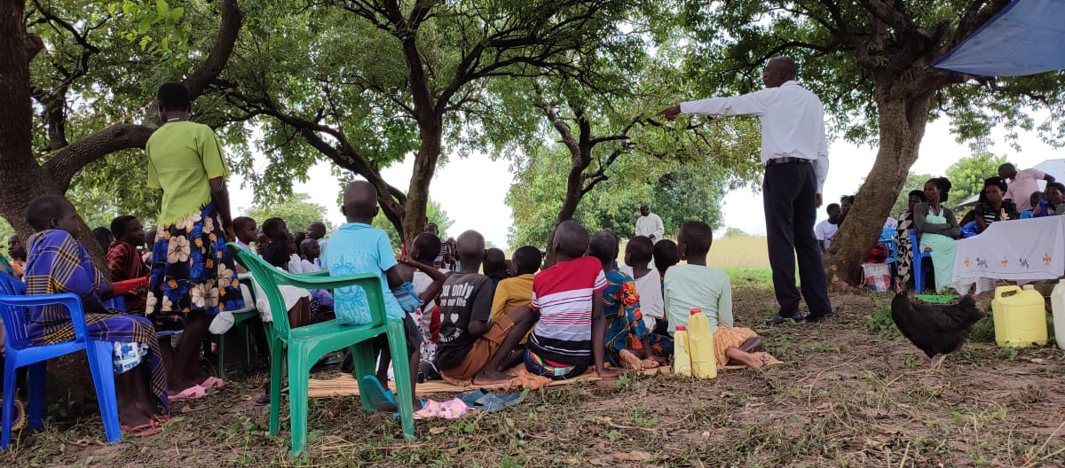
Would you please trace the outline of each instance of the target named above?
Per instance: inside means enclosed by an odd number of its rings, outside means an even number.
[[[891,320],[910,342],[932,360],[932,368],[943,367],[947,354],[965,342],[969,328],[984,318],[977,301],[966,295],[956,304],[919,304],[910,302],[905,291],[891,300]]]

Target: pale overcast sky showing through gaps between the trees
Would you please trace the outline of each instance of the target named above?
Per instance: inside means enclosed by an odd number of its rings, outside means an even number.
[[[1015,163],[1018,168],[1031,167],[1044,160],[1065,157],[1065,152],[1044,144],[1035,132],[1019,134],[1020,152],[1015,152],[1004,143],[1004,135],[1005,131],[1002,129],[994,133],[994,146],[990,151],[1006,155],[1007,160]],[[824,185],[825,204],[839,200],[841,195],[857,191],[863,178],[869,174],[875,155],[875,148],[856,147],[841,139],[832,143],[829,147],[829,178]],[[954,141],[948,121],[940,119],[929,123],[924,139],[921,141],[919,157],[911,171],[941,176],[951,164],[968,155],[970,155],[968,144]],[[752,157],[758,155],[752,154]],[[382,171],[384,180],[400,189],[406,189],[409,185],[412,162],[411,156],[403,164],[395,164],[384,169]],[[437,170],[429,193],[455,221],[448,230],[448,235],[457,236],[465,230],[473,229],[496,246],[506,246],[507,228],[511,225],[512,217],[510,207],[504,199],[514,178],[509,171],[509,166],[506,161],[493,162],[484,154],[474,154],[466,158],[453,156],[446,165]],[[318,164],[312,168],[309,176],[309,182],[296,184],[295,191],[308,194],[312,201],[326,206],[329,220],[333,224],[344,222],[337,204],[340,186],[335,182],[337,178],[330,173],[329,166],[324,163]],[[241,188],[242,182],[243,179],[239,176],[230,180],[232,204],[239,213],[251,206],[251,190]],[[561,178],[559,183],[563,183]],[[761,195],[755,193],[753,188],[744,187],[728,193],[724,199],[723,212],[726,227],[739,228],[752,234],[765,234],[766,219],[761,207]],[[634,212],[634,222],[637,213]],[[824,217],[826,216],[822,208],[818,218]],[[667,233],[670,234],[675,233]]]

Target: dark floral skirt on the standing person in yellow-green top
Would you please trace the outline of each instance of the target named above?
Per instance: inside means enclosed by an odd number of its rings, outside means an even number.
[[[175,224],[161,225],[151,256],[145,312],[155,330],[182,330],[191,312],[214,315],[244,307],[214,203]]]

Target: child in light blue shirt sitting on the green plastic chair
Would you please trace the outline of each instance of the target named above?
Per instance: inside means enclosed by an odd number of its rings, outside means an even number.
[[[422,333],[392,292],[393,288],[404,287],[405,282],[399,275],[399,269],[396,268],[398,262],[393,254],[389,235],[384,231],[370,225],[378,212],[377,189],[365,181],[355,181],[347,184],[347,187],[344,188],[344,205],[341,207],[341,212],[344,213],[347,222],[329,237],[328,247],[322,256],[322,265],[328,268],[329,273],[334,277],[374,273],[380,278],[384,312],[391,320],[403,320],[406,332],[411,380],[410,400],[414,410],[414,418],[425,419],[439,416],[441,411],[446,412],[448,408],[442,408],[440,403],[432,400],[426,400],[426,404],[423,406],[414,398]],[[431,266],[420,262],[407,257],[402,260],[422,271],[436,271]],[[370,304],[366,303],[365,295],[356,288],[356,286],[348,286],[333,290],[337,317],[338,319],[343,318],[345,322],[351,324],[368,323]],[[381,364],[378,366],[376,379],[374,375],[365,375],[361,387],[373,392],[367,397],[379,411],[393,410],[394,400],[389,400],[388,397],[391,394],[384,390],[388,385],[388,365],[391,357],[387,352],[389,349],[387,337],[382,335],[375,345],[381,351]]]

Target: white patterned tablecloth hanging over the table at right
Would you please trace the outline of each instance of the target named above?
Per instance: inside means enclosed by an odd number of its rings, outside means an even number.
[[[957,241],[954,283],[976,283],[977,292],[994,288],[993,280],[1027,283],[1063,274],[1065,216],[1000,221]]]

